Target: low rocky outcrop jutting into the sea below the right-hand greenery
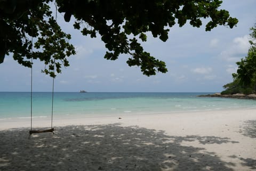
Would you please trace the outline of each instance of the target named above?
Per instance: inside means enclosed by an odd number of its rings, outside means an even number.
[[[198,95],[198,97],[223,97],[223,98],[235,98],[235,99],[254,99],[256,100],[256,94],[228,94],[228,95],[222,95],[220,93],[214,93],[214,94],[206,94],[206,95]]]

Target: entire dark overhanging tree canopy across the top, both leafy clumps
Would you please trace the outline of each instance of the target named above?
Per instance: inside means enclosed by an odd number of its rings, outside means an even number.
[[[0,63],[5,54],[13,53],[14,60],[31,67],[29,59],[40,59],[46,65],[44,72],[61,72],[68,66],[67,57],[74,55],[74,47],[68,43],[70,35],[61,31],[50,11],[53,0],[2,0],[0,1]],[[178,22],[182,27],[187,21],[193,27],[201,27],[202,19],[210,18],[205,30],[218,25],[236,26],[238,20],[229,17],[226,10],[218,10],[219,0],[56,0],[58,11],[65,21],[75,18],[74,28],[87,36],[100,36],[107,52],[104,58],[116,60],[120,54],[129,54],[129,66],[140,66],[144,75],[166,72],[163,61],[145,52],[139,41],[147,41],[146,32],[151,32],[164,42],[169,28]],[[2,29],[3,28],[3,29]],[[36,38],[31,52],[32,42]],[[15,42],[15,40],[18,40]]]

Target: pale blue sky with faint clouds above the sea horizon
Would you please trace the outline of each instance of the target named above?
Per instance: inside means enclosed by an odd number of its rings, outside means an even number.
[[[170,28],[169,39],[162,42],[147,33],[142,43],[145,51],[166,63],[169,70],[147,77],[139,67],[126,64],[129,55],[121,55],[115,61],[103,58],[107,49],[99,38],[90,38],[73,29],[73,22],[58,22],[63,31],[71,34],[70,43],[77,54],[69,57],[70,67],[54,80],[55,92],[221,92],[223,85],[232,82],[236,62],[247,55],[250,47],[250,28],[256,23],[255,0],[223,0],[220,9],[228,10],[231,17],[239,20],[230,29],[218,26],[205,31],[206,20],[201,28],[188,23]],[[34,61],[33,91],[51,92],[52,78],[41,73],[44,64]],[[5,56],[0,64],[0,92],[29,92],[30,68],[20,66]]]

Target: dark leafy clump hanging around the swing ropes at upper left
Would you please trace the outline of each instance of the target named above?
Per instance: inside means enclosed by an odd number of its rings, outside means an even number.
[[[59,73],[62,64],[69,66],[67,57],[75,54],[75,48],[68,43],[71,36],[63,32],[55,21],[50,2],[0,2],[0,63],[10,52],[13,59],[25,67],[31,67],[31,58],[39,59],[47,67],[43,72],[52,77],[55,77],[54,67]],[[35,38],[36,42],[30,37]],[[36,51],[31,51],[32,44]]]

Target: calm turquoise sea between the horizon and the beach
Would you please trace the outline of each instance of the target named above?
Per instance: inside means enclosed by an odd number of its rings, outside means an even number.
[[[144,115],[256,108],[254,100],[197,97],[209,93],[54,93],[54,118]],[[0,92],[0,120],[30,118],[29,92]],[[33,117],[51,118],[52,93],[33,93]],[[170,114],[171,115],[171,114]]]

